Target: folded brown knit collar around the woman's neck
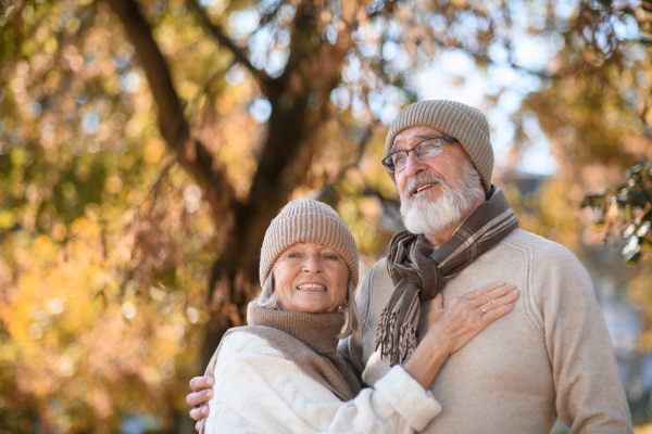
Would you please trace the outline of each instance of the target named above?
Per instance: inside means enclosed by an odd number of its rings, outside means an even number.
[[[266,326],[281,330],[301,341],[317,354],[337,350],[338,335],[344,326],[344,314],[309,314],[260,307],[251,302],[247,309],[249,326]]]

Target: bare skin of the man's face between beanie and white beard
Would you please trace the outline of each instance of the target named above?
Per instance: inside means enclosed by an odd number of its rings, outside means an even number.
[[[394,138],[392,152],[412,149],[426,139],[440,136],[447,135],[431,127],[408,128]],[[411,180],[421,175],[438,175],[446,184],[453,187],[460,181],[466,162],[466,153],[456,142],[444,142],[443,152],[429,159],[421,159],[414,152],[411,152],[406,166],[394,174],[401,203],[438,201],[442,194],[439,183],[418,182],[414,184]]]

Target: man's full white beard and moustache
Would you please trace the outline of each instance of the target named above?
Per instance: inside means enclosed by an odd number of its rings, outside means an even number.
[[[485,194],[478,178],[477,170],[468,161],[462,169],[460,180],[453,187],[447,186],[439,175],[412,178],[403,194],[405,199],[401,203],[401,217],[405,228],[412,233],[435,234],[459,225],[475,203],[478,192]],[[441,197],[431,201],[427,194],[413,196],[411,192],[424,182],[437,182],[441,189]]]

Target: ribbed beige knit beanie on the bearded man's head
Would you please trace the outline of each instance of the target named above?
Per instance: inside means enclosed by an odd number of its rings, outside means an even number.
[[[485,193],[491,189],[493,150],[489,138],[489,125],[482,113],[455,101],[431,100],[408,105],[391,124],[385,141],[385,155],[390,153],[397,135],[410,127],[432,127],[460,141],[466,154],[480,174]],[[389,174],[394,181],[394,174]]]

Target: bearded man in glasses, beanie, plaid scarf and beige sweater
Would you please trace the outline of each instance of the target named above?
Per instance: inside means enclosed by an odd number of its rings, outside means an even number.
[[[430,386],[442,412],[424,432],[548,434],[557,417],[572,433],[631,432],[591,281],[567,248],[518,229],[491,183],[485,116],[453,101],[414,103],[392,124],[385,155],[406,229],[358,291],[362,334],[340,342],[363,381],[410,356],[437,293],[446,304],[502,280],[519,289],[514,310],[442,367]]]

